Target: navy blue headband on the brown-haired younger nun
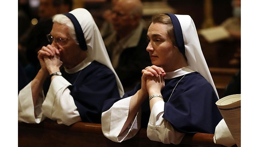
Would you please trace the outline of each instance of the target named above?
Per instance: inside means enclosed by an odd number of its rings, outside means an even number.
[[[172,13],[165,13],[165,14],[168,15],[172,20],[172,24],[173,24],[173,28],[174,28],[174,35],[176,38],[176,44],[177,44],[180,52],[183,55],[185,55],[185,45],[184,45],[184,39],[183,39],[183,35],[182,35],[180,22],[174,14],[172,14]]]

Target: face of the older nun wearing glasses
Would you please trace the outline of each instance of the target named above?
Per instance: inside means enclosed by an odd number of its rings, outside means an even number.
[[[82,50],[75,40],[72,39],[69,28],[65,24],[53,23],[51,35],[54,38],[52,46],[60,50],[60,60],[63,62],[65,67],[72,67],[73,62],[81,56]],[[59,42],[59,38],[64,40]]]

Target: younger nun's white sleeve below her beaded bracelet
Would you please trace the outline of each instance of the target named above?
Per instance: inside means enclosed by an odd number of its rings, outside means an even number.
[[[154,104],[149,117],[147,136],[150,140],[164,144],[179,144],[185,134],[176,131],[168,120],[162,118],[164,105],[164,101]]]

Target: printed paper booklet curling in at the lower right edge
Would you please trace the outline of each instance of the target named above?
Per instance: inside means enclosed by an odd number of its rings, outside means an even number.
[[[233,94],[219,99],[216,105],[236,141],[236,145],[241,147],[241,94]]]

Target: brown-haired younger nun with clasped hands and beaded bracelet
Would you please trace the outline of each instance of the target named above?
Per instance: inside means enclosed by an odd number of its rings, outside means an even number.
[[[151,140],[179,144],[188,133],[214,133],[218,94],[191,17],[154,15],[147,37],[153,66],[134,90],[104,102],[105,137],[122,142],[144,127]]]

